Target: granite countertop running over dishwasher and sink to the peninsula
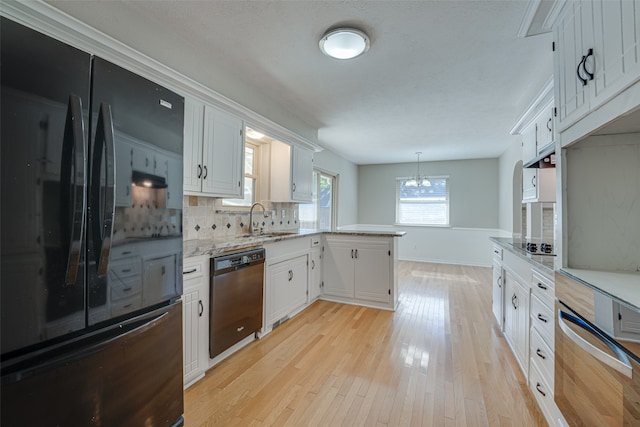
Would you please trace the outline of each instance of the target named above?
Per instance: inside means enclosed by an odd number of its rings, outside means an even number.
[[[220,255],[225,252],[238,251],[243,249],[251,249],[261,247],[266,243],[280,242],[290,239],[298,239],[301,237],[312,236],[314,234],[343,234],[352,236],[378,236],[378,237],[402,237],[406,233],[404,231],[393,230],[370,230],[364,229],[340,229],[337,231],[326,230],[309,230],[300,229],[291,232],[273,232],[257,234],[254,236],[240,235],[224,239],[198,239],[185,240],[183,244],[183,253],[185,258],[201,256],[201,255]]]

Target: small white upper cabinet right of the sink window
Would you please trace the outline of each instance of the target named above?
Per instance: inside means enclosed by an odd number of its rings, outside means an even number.
[[[310,203],[313,190],[313,152],[279,141],[271,143],[272,202]]]

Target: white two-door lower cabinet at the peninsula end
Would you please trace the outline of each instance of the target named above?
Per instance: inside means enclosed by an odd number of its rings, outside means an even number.
[[[325,236],[324,299],[395,308],[394,239]]]

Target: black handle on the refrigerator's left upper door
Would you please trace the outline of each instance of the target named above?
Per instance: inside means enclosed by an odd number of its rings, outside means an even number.
[[[78,280],[82,242],[84,240],[84,221],[87,210],[87,196],[85,186],[86,152],[84,144],[84,122],[82,117],[82,100],[77,95],[69,96],[67,118],[64,126],[62,142],[62,161],[60,176],[62,177],[61,215],[63,228],[70,225],[65,233],[69,236],[69,254],[67,256],[67,270],[65,285],[74,285]],[[70,209],[71,212],[66,211]],[[71,223],[67,223],[67,220]]]

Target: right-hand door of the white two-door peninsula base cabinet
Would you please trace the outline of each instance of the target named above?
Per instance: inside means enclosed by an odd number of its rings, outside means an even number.
[[[386,240],[358,239],[355,249],[355,297],[388,303],[391,298],[391,248]]]

